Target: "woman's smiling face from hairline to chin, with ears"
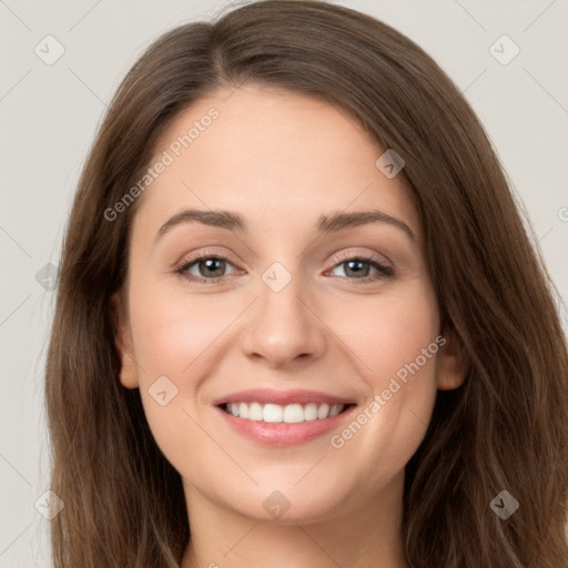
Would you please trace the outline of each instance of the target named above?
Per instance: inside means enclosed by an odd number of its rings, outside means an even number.
[[[207,97],[162,136],[121,382],[190,506],[287,521],[399,501],[436,389],[462,379],[385,150],[345,111],[261,87]]]

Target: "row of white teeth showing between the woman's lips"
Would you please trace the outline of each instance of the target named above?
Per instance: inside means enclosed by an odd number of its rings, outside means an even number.
[[[240,418],[268,423],[285,422],[287,424],[332,418],[344,409],[344,404],[335,404],[329,407],[329,405],[325,403],[310,403],[306,405],[288,404],[286,406],[281,406],[280,404],[262,405],[260,403],[230,403],[225,405],[225,410],[229,414]]]

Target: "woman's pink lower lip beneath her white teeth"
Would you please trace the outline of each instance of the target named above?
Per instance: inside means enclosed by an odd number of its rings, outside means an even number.
[[[233,416],[219,406],[214,408],[221,413],[222,417],[236,433],[254,442],[268,446],[294,446],[310,442],[337,428],[339,424],[352,414],[355,405],[331,418],[316,418],[315,420],[292,424],[285,422],[268,423],[263,420],[248,420]]]

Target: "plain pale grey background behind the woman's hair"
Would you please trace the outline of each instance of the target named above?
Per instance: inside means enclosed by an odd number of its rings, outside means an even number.
[[[335,3],[415,40],[462,89],[525,203],[566,302],[568,0]],[[36,508],[49,489],[42,389],[54,292],[44,267],[59,262],[72,195],[106,102],[162,32],[211,20],[226,6],[0,0],[0,567],[49,566],[49,520]]]

